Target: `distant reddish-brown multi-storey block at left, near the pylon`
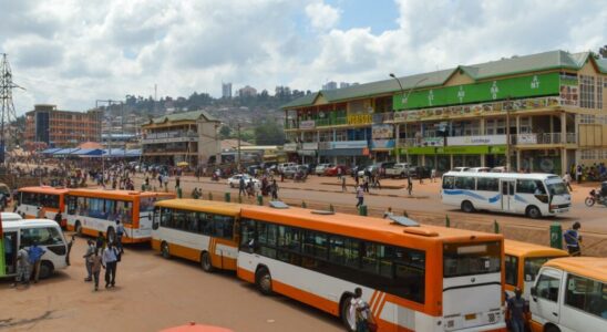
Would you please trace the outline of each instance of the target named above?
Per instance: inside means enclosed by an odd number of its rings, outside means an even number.
[[[25,143],[45,143],[52,147],[72,147],[101,141],[102,112],[56,110],[55,105],[34,105],[25,113]]]

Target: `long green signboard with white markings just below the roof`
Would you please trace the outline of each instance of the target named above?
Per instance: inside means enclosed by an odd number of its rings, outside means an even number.
[[[408,100],[402,94],[393,96],[394,110],[424,108],[505,100],[558,95],[559,74],[537,74],[495,80],[459,86],[413,91]],[[407,95],[407,94],[405,94]]]

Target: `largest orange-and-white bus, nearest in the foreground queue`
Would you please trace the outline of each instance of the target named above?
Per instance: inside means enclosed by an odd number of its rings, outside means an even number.
[[[239,278],[340,317],[357,287],[379,331],[505,331],[503,236],[243,206]]]

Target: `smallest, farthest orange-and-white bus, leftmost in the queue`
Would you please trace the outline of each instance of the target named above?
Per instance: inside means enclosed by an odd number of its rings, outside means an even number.
[[[50,186],[22,187],[17,194],[17,212],[24,218],[42,218],[54,220],[56,212],[65,208],[65,194],[70,189],[55,188]],[[38,208],[42,207],[44,216],[38,216]],[[65,216],[61,219],[60,226],[65,228]]]

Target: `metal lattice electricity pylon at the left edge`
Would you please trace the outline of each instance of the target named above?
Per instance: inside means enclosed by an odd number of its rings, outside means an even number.
[[[7,54],[2,53],[2,63],[0,64],[0,163],[4,164],[4,152],[7,147],[7,136],[17,142],[17,115],[14,113],[14,104],[12,102],[12,90],[23,89],[12,82],[12,72],[9,65]],[[23,89],[24,90],[24,89]],[[14,128],[11,128],[11,123],[14,123]]]

